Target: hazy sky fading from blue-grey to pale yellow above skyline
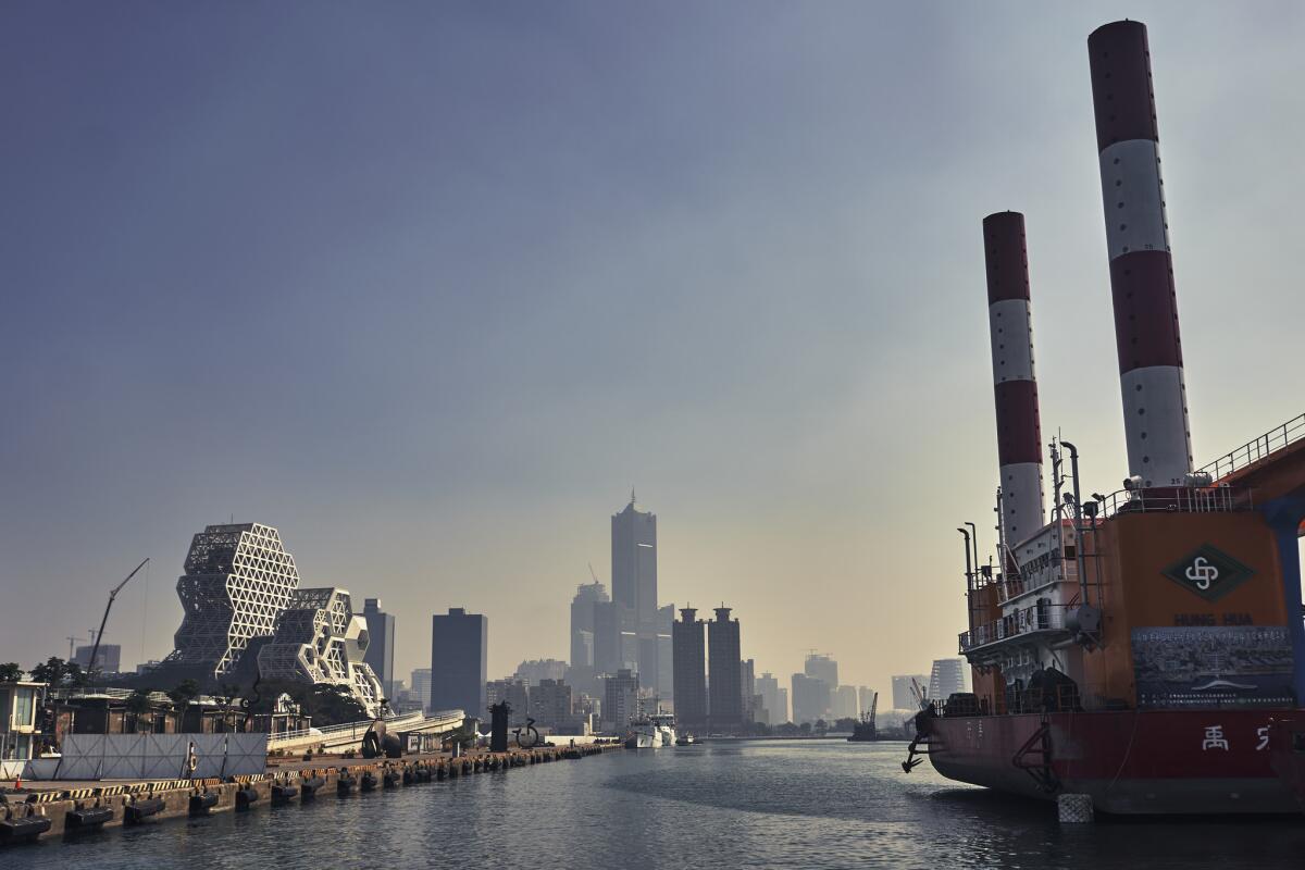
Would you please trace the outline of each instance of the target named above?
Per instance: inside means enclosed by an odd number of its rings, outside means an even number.
[[[1027,219],[1045,438],[1126,475],[1086,40],[1150,27],[1197,462],[1302,410],[1305,8],[0,5],[0,661],[172,646],[281,530],[489,674],[568,653],[609,515],[757,672],[957,653],[994,533],[981,219]]]

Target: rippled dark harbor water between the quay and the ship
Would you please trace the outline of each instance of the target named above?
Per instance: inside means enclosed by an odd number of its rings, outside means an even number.
[[[903,743],[611,753],[8,849],[5,867],[1300,867],[1305,817],[1062,827]]]

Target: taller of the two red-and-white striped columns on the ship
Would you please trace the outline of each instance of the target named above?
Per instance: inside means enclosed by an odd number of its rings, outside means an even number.
[[[1191,432],[1146,25],[1108,23],[1087,38],[1087,50],[1129,476],[1146,487],[1182,485]]]

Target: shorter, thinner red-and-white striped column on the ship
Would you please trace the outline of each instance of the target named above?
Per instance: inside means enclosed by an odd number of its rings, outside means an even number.
[[[997,460],[1006,543],[1014,547],[1043,527],[1043,428],[1034,376],[1034,326],[1028,309],[1024,215],[998,211],[983,219],[988,265],[988,326],[997,397]]]

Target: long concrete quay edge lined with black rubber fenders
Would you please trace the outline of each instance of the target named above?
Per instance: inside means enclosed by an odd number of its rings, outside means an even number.
[[[0,792],[0,848],[224,811],[253,811],[359,792],[505,772],[549,762],[578,760],[621,749],[613,743],[547,746],[506,753],[412,755],[401,759],[271,759],[266,773],[224,780],[34,783]]]

